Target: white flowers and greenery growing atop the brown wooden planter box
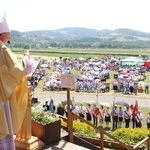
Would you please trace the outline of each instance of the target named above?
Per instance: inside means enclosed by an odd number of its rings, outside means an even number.
[[[37,121],[43,125],[55,122],[59,120],[59,117],[56,114],[51,113],[50,111],[45,111],[44,108],[32,108],[31,119]]]

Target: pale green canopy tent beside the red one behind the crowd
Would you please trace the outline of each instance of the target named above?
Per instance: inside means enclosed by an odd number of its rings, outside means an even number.
[[[137,64],[139,66],[144,66],[144,63],[145,61],[139,57],[127,57],[120,61],[121,66],[135,66]]]

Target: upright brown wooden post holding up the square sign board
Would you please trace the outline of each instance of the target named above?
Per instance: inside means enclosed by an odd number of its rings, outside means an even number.
[[[68,133],[69,133],[69,141],[74,143],[73,139],[73,119],[72,112],[70,111],[70,88],[67,88],[67,105],[68,105]]]

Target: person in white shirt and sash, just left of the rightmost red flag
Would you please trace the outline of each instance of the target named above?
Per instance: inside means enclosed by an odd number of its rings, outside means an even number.
[[[125,128],[129,128],[132,112],[129,107],[124,111]]]

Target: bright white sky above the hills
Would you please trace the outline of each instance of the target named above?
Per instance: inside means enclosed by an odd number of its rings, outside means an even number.
[[[10,29],[20,32],[86,27],[150,33],[150,0],[5,0],[3,8]]]

